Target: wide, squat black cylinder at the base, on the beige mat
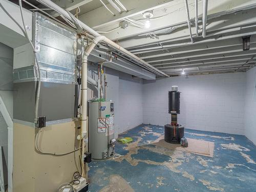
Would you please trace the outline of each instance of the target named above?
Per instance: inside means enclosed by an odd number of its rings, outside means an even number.
[[[180,143],[182,137],[184,137],[184,126],[164,125],[164,141],[167,143]]]

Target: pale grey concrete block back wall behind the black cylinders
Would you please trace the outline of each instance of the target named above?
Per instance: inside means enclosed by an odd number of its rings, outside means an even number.
[[[170,122],[168,91],[179,86],[186,128],[244,135],[245,73],[160,78],[143,81],[143,123]]]

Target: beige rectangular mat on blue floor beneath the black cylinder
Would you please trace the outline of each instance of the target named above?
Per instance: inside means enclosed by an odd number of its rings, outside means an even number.
[[[168,148],[170,150],[178,150],[212,158],[214,157],[214,142],[189,138],[186,139],[188,142],[188,147],[182,147],[180,144],[167,143],[164,141],[164,135],[159,137],[151,144]]]

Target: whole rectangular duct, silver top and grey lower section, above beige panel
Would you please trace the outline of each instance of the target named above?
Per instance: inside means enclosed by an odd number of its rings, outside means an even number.
[[[46,121],[74,118],[76,32],[39,13],[33,14],[33,43],[41,72],[38,116]],[[14,119],[34,122],[35,58],[30,45],[14,49]]]

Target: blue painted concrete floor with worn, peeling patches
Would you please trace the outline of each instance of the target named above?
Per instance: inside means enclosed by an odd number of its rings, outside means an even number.
[[[256,191],[256,146],[245,136],[185,130],[185,137],[215,142],[214,158],[150,144],[163,127],[140,125],[119,137],[116,155],[89,164],[94,191]]]

